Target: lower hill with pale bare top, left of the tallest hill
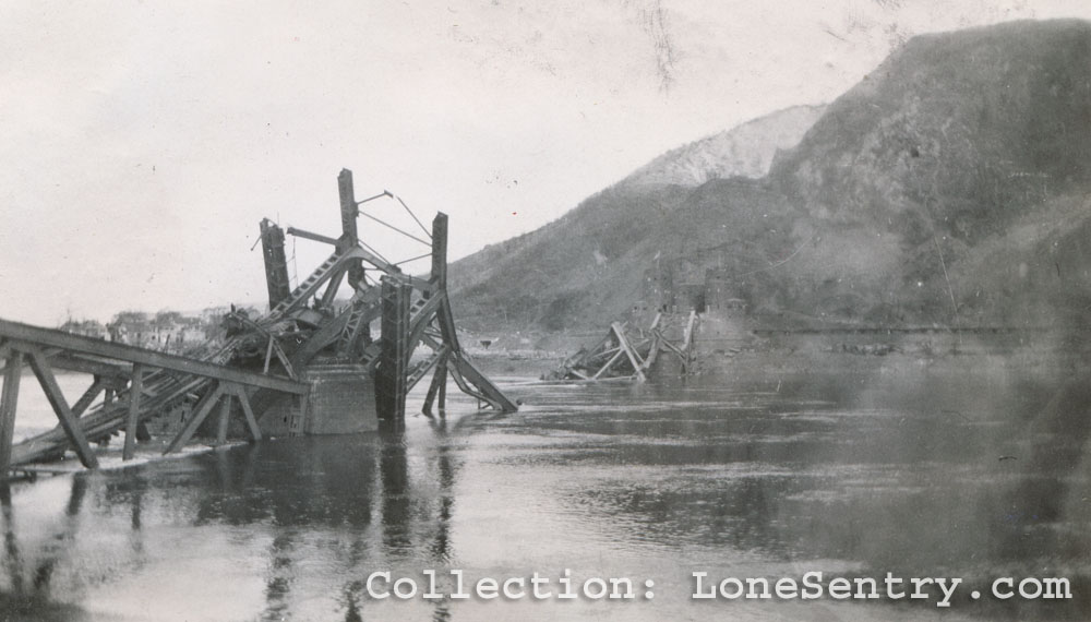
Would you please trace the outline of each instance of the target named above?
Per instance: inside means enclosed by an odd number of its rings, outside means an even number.
[[[455,262],[449,279],[459,321],[480,330],[601,326],[640,298],[657,255],[693,248],[676,235],[682,223],[673,216],[696,187],[764,176],[820,111],[780,110],[672,149],[546,227]]]

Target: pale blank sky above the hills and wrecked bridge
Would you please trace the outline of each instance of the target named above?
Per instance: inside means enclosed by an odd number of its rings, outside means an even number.
[[[343,167],[358,199],[447,212],[457,259],[669,148],[832,100],[914,34],[1091,19],[1083,0],[293,4],[0,0],[0,318],[261,302],[257,222],[338,235]],[[360,227],[392,260],[424,251]],[[296,250],[300,276],[328,252]]]

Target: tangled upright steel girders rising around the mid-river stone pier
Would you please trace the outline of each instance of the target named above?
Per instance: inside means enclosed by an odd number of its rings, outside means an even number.
[[[272,311],[257,324],[271,335],[271,348],[277,342],[278,324],[281,324],[280,335],[292,334],[292,327],[285,331],[283,322],[309,320],[313,318],[315,308],[331,309],[338,288],[347,280],[352,288],[348,304],[332,320],[316,322],[317,328],[308,342],[290,356],[293,368],[305,367],[321,352],[332,352],[338,362],[361,366],[365,373],[373,374],[380,419],[394,426],[400,426],[405,420],[408,392],[430,372],[432,381],[423,407],[425,415],[431,416],[436,400],[440,412],[443,412],[448,374],[464,393],[475,397],[480,405],[504,412],[517,410],[517,405],[473,366],[458,342],[447,296],[446,214],[436,214],[431,230],[413,216],[429,238],[425,241],[360,212],[360,204],[381,196],[393,196],[388,192],[357,201],[352,174],[348,170],[343,170],[338,177],[338,189],[343,226],[339,238],[290,227],[287,229],[288,235],[334,247],[333,254],[291,291],[283,285],[287,283],[286,262],[281,260],[284,237],[278,234],[276,225],[263,223],[262,242]],[[405,207],[404,202],[401,206]],[[409,213],[412,215],[412,212]],[[428,276],[408,275],[397,264],[361,243],[357,230],[358,215],[368,216],[412,240],[429,243],[430,252],[415,258],[431,258]],[[369,284],[363,277],[364,271],[377,271],[381,274],[379,284]],[[310,300],[314,301],[313,307],[309,307]],[[372,340],[371,325],[376,321],[381,337]],[[418,350],[428,350],[428,354],[423,358],[415,358]],[[272,362],[271,355],[266,354],[265,369]]]

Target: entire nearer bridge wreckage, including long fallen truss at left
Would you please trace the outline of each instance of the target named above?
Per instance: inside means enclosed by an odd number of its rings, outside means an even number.
[[[243,423],[238,427],[253,440],[360,432],[380,424],[397,429],[405,422],[406,394],[429,372],[425,415],[436,403],[443,412],[448,374],[479,405],[516,410],[458,343],[446,289],[447,216],[437,214],[429,230],[406,207],[427,240],[379,220],[430,247],[430,253],[415,258],[431,256],[429,274],[411,276],[360,240],[357,217],[364,201],[356,200],[351,171],[340,172],[338,189],[339,237],[287,229],[288,235],[331,244],[329,258],[292,289],[285,230],[263,220],[269,312],[261,318],[230,313],[225,343],[196,356],[0,320],[0,361],[5,363],[0,368],[0,479],[11,470],[33,470],[29,463],[60,458],[69,448],[94,468],[98,459],[89,443],[121,431],[125,459],[153,431],[170,439],[164,453],[178,451],[206,426],[217,405],[218,420],[207,427],[215,428],[218,442],[226,441],[236,415]],[[351,290],[348,303],[336,298],[343,284]],[[428,355],[415,357],[420,346]],[[33,370],[60,424],[13,443],[24,364]],[[92,378],[71,406],[55,369]]]

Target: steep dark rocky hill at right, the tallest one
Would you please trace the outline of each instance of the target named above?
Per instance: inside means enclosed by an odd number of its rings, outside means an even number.
[[[834,279],[808,306],[849,319],[1048,324],[1070,314],[1091,267],[1074,238],[1091,215],[1089,96],[1083,22],[908,41],[774,164],[767,183],[820,240],[786,276]],[[829,304],[844,297],[853,309]]]

